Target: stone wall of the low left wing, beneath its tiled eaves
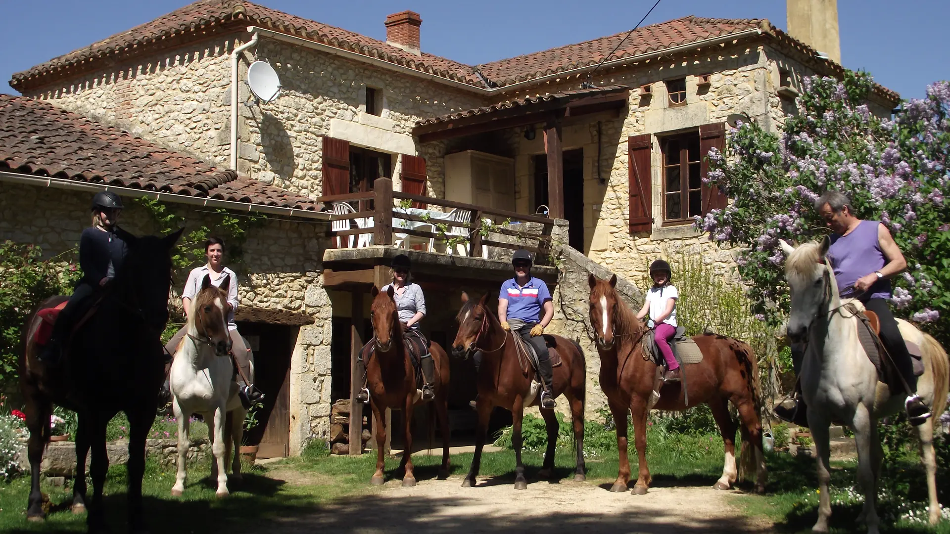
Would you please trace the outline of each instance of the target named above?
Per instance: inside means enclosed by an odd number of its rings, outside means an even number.
[[[45,257],[74,249],[89,224],[90,195],[62,189],[4,184],[0,196],[0,240],[35,243]],[[120,224],[133,234],[155,232],[149,214],[134,200],[125,199]],[[52,209],[55,206],[55,209]],[[186,220],[187,228],[205,225],[215,231],[215,219],[204,208],[171,204]],[[291,362],[291,451],[298,451],[312,437],[330,429],[330,317],[332,307],[320,284],[321,234],[326,223],[265,219],[249,231],[243,265],[238,272],[241,305],[292,310],[314,317],[301,327]],[[186,273],[178,273],[183,280]],[[180,287],[173,289],[176,295]]]

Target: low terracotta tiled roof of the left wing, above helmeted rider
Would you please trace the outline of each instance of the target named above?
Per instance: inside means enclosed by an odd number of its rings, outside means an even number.
[[[314,200],[238,176],[46,102],[0,95],[0,170],[318,211]]]

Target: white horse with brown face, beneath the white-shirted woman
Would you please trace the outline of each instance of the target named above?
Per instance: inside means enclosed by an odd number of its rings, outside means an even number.
[[[218,479],[218,497],[228,495],[228,476],[225,466],[231,458],[231,446],[234,444],[232,471],[239,481],[240,447],[244,433],[244,416],[247,410],[241,406],[237,397],[237,383],[233,375],[231,357],[231,337],[228,333],[227,314],[224,304],[227,302],[228,285],[231,280],[225,278],[219,288],[204,277],[201,290],[192,300],[188,314],[187,335],[175,352],[172,362],[169,385],[173,401],[172,409],[179,424],[178,476],[172,495],[178,497],[184,491],[185,463],[188,455],[188,426],[192,413],[199,413],[208,425],[208,438],[214,460],[211,464],[211,477]],[[252,359],[251,376],[254,379]],[[225,440],[225,425],[230,418],[230,440]]]

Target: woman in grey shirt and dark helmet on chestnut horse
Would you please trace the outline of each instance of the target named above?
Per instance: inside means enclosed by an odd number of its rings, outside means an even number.
[[[410,269],[412,267],[409,257],[400,254],[392,258],[390,263],[392,269],[392,282],[386,284],[380,292],[386,293],[392,288],[392,298],[396,301],[396,311],[399,314],[399,322],[407,327],[406,338],[409,343],[418,347],[423,355],[420,357],[419,366],[422,368],[423,380],[425,384],[422,387],[422,400],[432,400],[435,398],[435,392],[432,389],[433,375],[435,374],[435,363],[432,360],[432,354],[428,352],[428,339],[422,334],[419,328],[419,321],[426,316],[426,296],[422,293],[419,284],[412,283]],[[359,371],[363,373],[364,388],[356,396],[357,400],[368,402],[370,400],[370,391],[366,389],[366,369],[362,360],[359,362]]]

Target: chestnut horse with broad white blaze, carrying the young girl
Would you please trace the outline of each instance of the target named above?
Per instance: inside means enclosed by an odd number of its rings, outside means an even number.
[[[656,407],[649,406],[656,380],[656,364],[644,359],[643,339],[646,326],[637,320],[619,296],[615,286],[617,275],[610,281],[588,277],[590,284],[590,321],[596,332],[595,342],[600,354],[600,387],[607,395],[610,412],[617,424],[617,447],[620,470],[611,491],[626,491],[630,480],[627,460],[627,413],[633,414],[637,439],[639,476],[634,495],[643,495],[650,487],[647,467],[647,413],[656,410],[681,411],[684,404],[681,383],[663,386]],[[703,361],[686,364],[690,406],[708,404],[726,446],[726,462],[716,489],[729,489],[738,475],[735,467],[735,424],[729,413],[729,402],[739,411],[742,431],[740,465],[748,467],[754,459],[755,490],[765,491],[766,464],[762,452],[762,424],[759,421],[758,366],[749,345],[718,334],[694,335],[693,341],[703,353]],[[750,446],[754,448],[750,450]],[[753,458],[754,453],[754,458]]]

